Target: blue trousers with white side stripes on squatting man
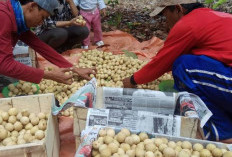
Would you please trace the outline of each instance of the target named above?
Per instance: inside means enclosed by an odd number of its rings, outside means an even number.
[[[207,56],[183,55],[173,65],[175,89],[198,95],[213,113],[208,140],[232,138],[232,68]]]

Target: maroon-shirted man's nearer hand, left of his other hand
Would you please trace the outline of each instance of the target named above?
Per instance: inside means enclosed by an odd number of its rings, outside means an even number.
[[[72,75],[65,75],[65,72],[70,71],[69,68],[54,69],[53,71],[44,71],[44,79],[53,80],[59,83],[72,84]]]

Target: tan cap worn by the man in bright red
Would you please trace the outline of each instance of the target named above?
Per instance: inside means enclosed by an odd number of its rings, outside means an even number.
[[[201,0],[154,0],[155,10],[150,13],[150,16],[156,16],[161,13],[165,7],[177,4],[190,4],[201,2]]]

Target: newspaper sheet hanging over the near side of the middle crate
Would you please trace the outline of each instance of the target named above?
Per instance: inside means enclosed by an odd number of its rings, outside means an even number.
[[[116,129],[180,136],[181,117],[156,114],[147,111],[118,109],[89,109],[86,129],[92,126],[108,126]]]

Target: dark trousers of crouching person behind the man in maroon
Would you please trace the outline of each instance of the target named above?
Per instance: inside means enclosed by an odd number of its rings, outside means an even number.
[[[57,52],[62,53],[82,41],[89,35],[87,27],[70,26],[44,31],[38,37]]]

